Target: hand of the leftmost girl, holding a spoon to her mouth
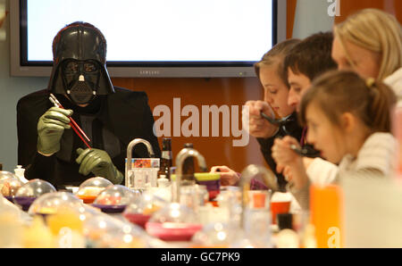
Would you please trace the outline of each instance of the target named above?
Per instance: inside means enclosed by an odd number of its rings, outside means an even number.
[[[249,112],[248,133],[253,137],[272,137],[278,130],[278,126],[272,125],[261,116],[261,112],[264,112],[266,115],[275,118],[271,106],[264,101],[247,101],[245,105],[248,107]],[[242,121],[244,126],[244,124],[247,123],[247,116],[245,113],[247,108],[243,110]]]

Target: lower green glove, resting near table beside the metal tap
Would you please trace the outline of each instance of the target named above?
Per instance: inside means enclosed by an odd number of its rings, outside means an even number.
[[[120,184],[123,176],[113,165],[109,154],[99,149],[77,149],[78,158],[75,162],[80,164],[80,174],[87,176],[89,172],[97,177],[109,179],[113,184]]]

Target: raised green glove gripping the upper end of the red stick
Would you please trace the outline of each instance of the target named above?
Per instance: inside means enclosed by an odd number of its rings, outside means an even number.
[[[64,129],[70,129],[72,110],[52,107],[38,121],[38,153],[50,156],[60,151]]]

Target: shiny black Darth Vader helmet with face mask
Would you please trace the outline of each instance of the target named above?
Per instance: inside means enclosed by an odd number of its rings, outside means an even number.
[[[74,104],[89,104],[96,96],[114,92],[106,70],[106,40],[99,29],[73,22],[53,41],[54,65],[49,89]]]

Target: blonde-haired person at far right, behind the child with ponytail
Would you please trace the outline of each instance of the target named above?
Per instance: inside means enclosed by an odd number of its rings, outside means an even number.
[[[336,25],[332,58],[339,70],[383,81],[401,100],[402,29],[393,15],[369,8]]]

